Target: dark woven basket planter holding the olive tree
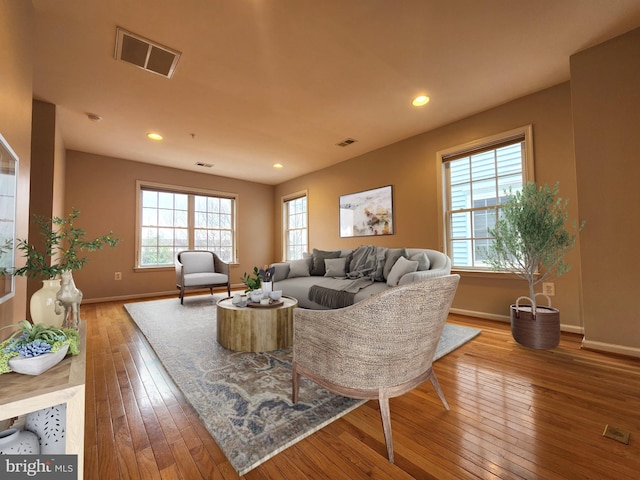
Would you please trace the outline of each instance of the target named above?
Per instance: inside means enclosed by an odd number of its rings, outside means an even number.
[[[511,334],[525,347],[549,350],[560,343],[560,311],[553,307],[536,307],[535,318],[530,305],[511,305]]]

